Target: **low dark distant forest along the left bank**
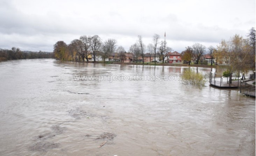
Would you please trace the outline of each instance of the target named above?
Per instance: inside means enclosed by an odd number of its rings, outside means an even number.
[[[0,61],[19,60],[19,59],[50,59],[55,58],[53,52],[31,52],[21,51],[20,48],[12,47],[12,49],[0,48]]]

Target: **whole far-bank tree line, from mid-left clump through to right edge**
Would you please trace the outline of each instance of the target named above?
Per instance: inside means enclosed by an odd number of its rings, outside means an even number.
[[[228,47],[225,49],[225,46]],[[237,46],[242,46],[243,48],[240,47],[240,50],[238,50]],[[225,53],[223,53],[223,48],[226,50]],[[109,55],[114,52],[119,54],[120,61],[123,62],[125,57],[124,53],[126,53],[125,49],[122,46],[117,47],[115,39],[107,39],[103,42],[98,35],[84,35],[79,39],[72,40],[70,44],[66,44],[64,41],[57,41],[54,45],[56,59],[63,61],[88,62],[90,56],[95,62],[96,56],[99,54],[105,62]],[[164,63],[168,53],[172,52],[172,48],[167,46],[165,39],[160,41],[159,34],[154,34],[151,43],[147,46],[145,46],[142,37],[138,35],[137,41],[129,47],[128,52],[133,54],[133,61],[142,57],[142,63],[144,63],[145,54],[148,53],[150,58],[155,58],[153,59],[155,63],[158,61],[156,60],[157,55],[159,56],[159,61]],[[246,71],[246,68],[255,68],[255,29],[251,28],[248,38],[235,35],[233,39],[229,41],[222,40],[221,44],[216,48],[213,46],[206,48],[206,46],[202,44],[195,43],[192,46],[185,47],[185,50],[181,53],[182,60],[187,61],[189,65],[192,61],[195,64],[199,64],[204,54],[209,54],[211,57],[211,65],[213,65],[214,59],[217,62],[223,59],[229,59],[227,65],[232,65],[234,69]],[[240,58],[238,58],[238,56]]]

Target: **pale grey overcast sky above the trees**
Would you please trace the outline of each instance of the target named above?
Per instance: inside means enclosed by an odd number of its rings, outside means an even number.
[[[156,33],[182,52],[200,43],[216,47],[255,27],[255,0],[0,0],[0,48],[52,51],[81,35],[114,38],[128,51]]]

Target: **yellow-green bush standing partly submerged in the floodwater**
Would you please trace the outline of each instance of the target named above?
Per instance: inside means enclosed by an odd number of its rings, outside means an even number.
[[[185,84],[204,86],[206,83],[205,75],[195,72],[192,69],[185,70],[182,74],[182,81]]]

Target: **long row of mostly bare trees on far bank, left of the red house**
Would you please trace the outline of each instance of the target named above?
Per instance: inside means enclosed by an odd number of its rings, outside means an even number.
[[[154,34],[152,37],[152,43],[145,46],[143,39],[138,35],[138,40],[135,44],[131,45],[129,48],[129,53],[133,54],[133,61],[137,61],[139,57],[142,57],[142,63],[144,63],[145,54],[148,53],[151,57],[155,57],[159,54],[160,60],[164,62],[165,57],[172,48],[167,46],[166,40],[160,42],[160,36]],[[118,53],[120,56],[120,61],[124,60],[125,48],[122,46],[117,47],[117,42],[115,39],[107,39],[102,41],[98,35],[94,36],[81,36],[79,39],[74,39],[70,44],[66,44],[64,41],[57,41],[54,45],[54,55],[56,59],[63,61],[89,61],[89,56],[96,61],[97,54],[102,56],[103,61],[109,57],[112,53]],[[151,60],[150,60],[151,61]]]

